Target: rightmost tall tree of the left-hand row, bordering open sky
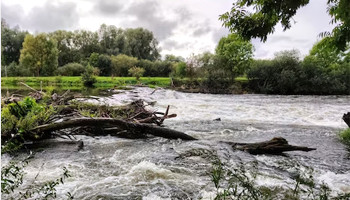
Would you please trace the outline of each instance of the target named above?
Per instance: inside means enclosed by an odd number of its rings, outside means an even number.
[[[153,33],[147,29],[126,29],[126,48],[124,54],[138,59],[157,60],[160,57],[158,41]]]

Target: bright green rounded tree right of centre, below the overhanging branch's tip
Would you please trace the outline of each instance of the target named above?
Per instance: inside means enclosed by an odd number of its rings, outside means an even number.
[[[229,34],[220,39],[216,54],[226,63],[223,67],[229,73],[231,81],[244,73],[253,56],[253,45],[237,34]]]

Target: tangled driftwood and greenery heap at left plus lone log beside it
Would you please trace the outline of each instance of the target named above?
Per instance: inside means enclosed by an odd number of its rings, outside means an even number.
[[[176,114],[169,114],[170,106],[163,113],[146,109],[151,103],[143,100],[115,107],[77,101],[77,97],[70,95],[69,91],[63,95],[56,93],[48,95],[42,91],[32,90],[34,92],[30,94],[29,99],[27,97],[21,101],[18,95],[2,99],[1,139],[2,150],[5,152],[8,146],[22,147],[28,141],[35,143],[53,137],[74,141],[75,135],[92,137],[111,135],[129,139],[155,136],[196,140],[183,132],[163,127],[164,120],[176,117]],[[28,125],[28,121],[33,117],[36,121]],[[273,138],[270,141],[258,143],[225,143],[235,150],[251,154],[315,150],[290,145],[284,138]],[[81,141],[79,145],[81,146]]]

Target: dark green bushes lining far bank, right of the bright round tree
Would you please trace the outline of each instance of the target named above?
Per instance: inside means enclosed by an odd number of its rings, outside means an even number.
[[[299,60],[296,51],[284,51],[273,60],[256,60],[248,71],[250,88],[266,94],[350,94],[350,62],[325,67],[321,59]]]

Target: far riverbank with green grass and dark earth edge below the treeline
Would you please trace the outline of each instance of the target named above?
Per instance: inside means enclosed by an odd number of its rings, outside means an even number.
[[[143,85],[150,88],[172,88],[186,93],[206,94],[245,94],[252,93],[248,88],[246,77],[237,77],[233,85],[208,85],[200,78],[170,78],[170,77],[141,77],[137,81],[134,77],[96,77],[95,88],[110,89],[130,85]],[[55,77],[2,77],[1,86],[9,90],[23,89],[23,82],[33,88],[40,89],[54,87],[60,89],[82,90],[84,88],[80,76],[55,76]]]

